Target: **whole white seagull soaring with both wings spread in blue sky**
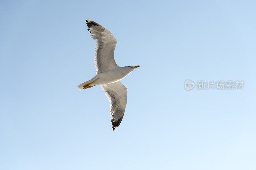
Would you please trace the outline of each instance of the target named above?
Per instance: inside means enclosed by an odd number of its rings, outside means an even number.
[[[79,90],[85,90],[93,86],[100,86],[110,102],[112,129],[116,131],[124,117],[127,104],[127,88],[120,80],[140,66],[117,66],[114,59],[117,44],[115,37],[100,24],[89,19],[85,21],[90,36],[97,41],[94,56],[96,75],[91,80],[80,84],[78,88]]]

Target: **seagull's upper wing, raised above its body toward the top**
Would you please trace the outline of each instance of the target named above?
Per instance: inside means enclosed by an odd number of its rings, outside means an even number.
[[[85,21],[89,27],[88,31],[92,34],[92,39],[97,40],[94,57],[96,74],[118,67],[114,59],[117,44],[115,37],[100,24],[89,19]]]

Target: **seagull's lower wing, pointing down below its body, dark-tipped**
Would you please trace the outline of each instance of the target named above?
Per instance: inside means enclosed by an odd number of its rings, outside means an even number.
[[[112,115],[112,128],[116,131],[124,117],[124,110],[127,103],[127,88],[117,81],[115,83],[101,85],[110,102],[110,115]]]

